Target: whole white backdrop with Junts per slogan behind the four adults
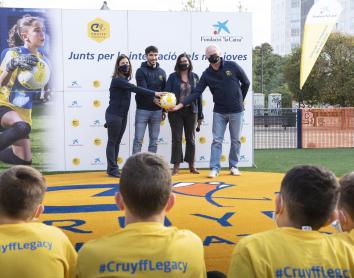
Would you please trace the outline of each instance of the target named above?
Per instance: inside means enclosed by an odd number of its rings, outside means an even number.
[[[8,13],[48,15],[48,10],[1,9]],[[46,48],[51,47],[52,98],[44,104],[43,168],[47,171],[106,169],[104,128],[109,85],[119,54],[130,57],[132,82],[140,64],[146,61],[148,45],[159,48],[159,63],[167,77],[176,58],[191,55],[194,72],[201,76],[208,67],[205,47],[217,44],[225,60],[236,61],[252,81],[252,33],[249,13],[127,12],[93,10],[50,10]],[[54,24],[54,23],[55,24]],[[10,25],[10,24],[9,24]],[[55,26],[55,28],[53,27]],[[2,49],[11,26],[1,29]],[[252,87],[252,86],[251,86]],[[253,165],[252,92],[245,100],[240,166]],[[135,94],[132,95],[129,122],[122,140],[118,163],[123,166],[132,152],[135,120]],[[213,101],[210,91],[203,94],[204,122],[196,133],[196,166],[209,167],[212,143]],[[143,151],[148,146],[146,130]],[[166,160],[171,155],[171,130],[168,120],[161,122],[158,153]],[[222,152],[222,165],[228,167],[228,130]],[[182,165],[186,166],[186,165]]]

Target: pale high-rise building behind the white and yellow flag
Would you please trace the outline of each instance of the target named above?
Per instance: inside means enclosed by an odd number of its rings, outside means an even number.
[[[301,45],[306,16],[320,0],[272,0],[271,44],[274,53],[287,55]],[[354,0],[338,0],[343,8],[336,30],[354,35]]]

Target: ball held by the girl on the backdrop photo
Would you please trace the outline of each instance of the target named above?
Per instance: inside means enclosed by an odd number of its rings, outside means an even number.
[[[17,79],[20,84],[30,90],[38,90],[47,85],[50,77],[48,64],[38,58],[37,65],[31,70],[20,70]]]

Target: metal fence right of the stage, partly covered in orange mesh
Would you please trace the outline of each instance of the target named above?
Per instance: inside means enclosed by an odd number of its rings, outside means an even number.
[[[354,147],[354,108],[255,109],[254,148]]]

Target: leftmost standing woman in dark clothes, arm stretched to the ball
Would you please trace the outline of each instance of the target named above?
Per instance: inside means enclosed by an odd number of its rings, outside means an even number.
[[[163,95],[162,92],[154,92],[129,83],[131,74],[132,67],[129,58],[125,55],[120,55],[114,67],[112,82],[109,88],[109,105],[105,115],[108,131],[106,148],[107,174],[117,178],[120,177],[117,164],[119,144],[127,126],[131,92],[155,94],[157,97]]]

